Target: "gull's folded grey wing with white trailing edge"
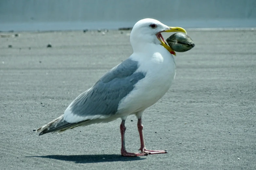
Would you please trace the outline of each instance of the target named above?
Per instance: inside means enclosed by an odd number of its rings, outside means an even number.
[[[70,104],[64,113],[64,120],[73,123],[115,114],[119,102],[139,80],[145,78],[146,73],[135,73],[137,69],[138,62],[131,59],[111,69]]]

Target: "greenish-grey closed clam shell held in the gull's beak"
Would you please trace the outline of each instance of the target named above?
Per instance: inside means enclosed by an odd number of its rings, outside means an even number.
[[[185,52],[195,46],[193,40],[184,33],[175,33],[169,36],[166,42],[176,52]]]

